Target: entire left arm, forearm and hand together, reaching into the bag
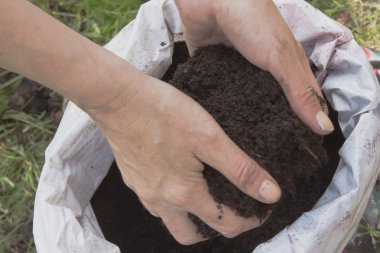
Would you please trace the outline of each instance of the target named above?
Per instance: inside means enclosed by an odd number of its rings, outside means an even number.
[[[0,1],[0,7],[0,66],[45,84],[87,111],[107,137],[125,183],[179,242],[203,240],[188,212],[228,237],[260,225],[227,207],[223,219],[217,218],[203,163],[259,201],[276,202],[281,192],[201,106],[29,1]]]

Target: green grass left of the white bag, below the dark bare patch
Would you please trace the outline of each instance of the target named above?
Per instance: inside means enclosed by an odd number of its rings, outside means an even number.
[[[0,252],[33,252],[33,198],[53,126],[44,113],[0,118]]]

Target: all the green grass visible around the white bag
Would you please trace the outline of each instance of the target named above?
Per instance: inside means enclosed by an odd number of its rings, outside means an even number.
[[[140,3],[138,0],[32,2],[100,45],[136,15]],[[380,50],[377,0],[309,2],[351,28],[359,43]],[[25,113],[32,98],[26,99],[19,108],[10,109],[12,94],[24,81],[21,76],[0,70],[0,253],[35,252],[31,234],[33,199],[44,150],[55,132],[48,113]],[[378,236],[379,227],[369,222],[362,223],[363,226],[360,236]]]

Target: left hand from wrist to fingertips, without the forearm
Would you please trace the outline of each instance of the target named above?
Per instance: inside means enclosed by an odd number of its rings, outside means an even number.
[[[190,97],[142,74],[136,81],[109,105],[112,110],[89,111],[106,135],[126,185],[182,244],[204,240],[188,212],[226,237],[259,226],[258,218],[244,219],[225,206],[218,219],[202,162],[265,203],[281,195],[275,180]]]

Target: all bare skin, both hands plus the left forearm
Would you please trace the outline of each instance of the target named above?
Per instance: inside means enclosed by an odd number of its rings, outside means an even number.
[[[321,91],[306,67],[307,59],[273,3],[233,2],[237,4],[176,1],[190,51],[206,44],[233,45],[280,80],[294,111],[315,132],[331,132],[331,122],[310,92],[310,87]],[[263,24],[271,32],[259,29],[263,41],[235,31],[241,21],[237,14],[244,6],[260,10],[257,15],[265,11],[274,19]],[[247,25],[238,30],[256,29],[258,20],[244,13],[241,18]],[[223,219],[218,219],[218,204],[202,176],[203,163],[259,201],[274,203],[280,198],[276,181],[194,100],[144,75],[28,1],[0,0],[0,35],[0,66],[59,92],[86,111],[107,138],[124,182],[151,214],[162,218],[178,242],[204,240],[188,212],[226,237],[261,225],[257,218],[236,216],[228,207],[223,207]],[[264,38],[272,43],[265,45]],[[276,57],[281,63],[276,63]]]

